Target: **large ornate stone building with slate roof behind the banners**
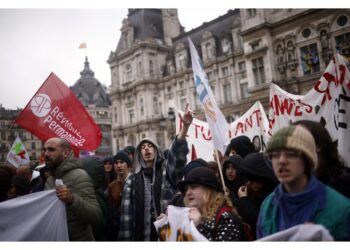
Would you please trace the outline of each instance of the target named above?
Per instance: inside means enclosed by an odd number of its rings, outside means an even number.
[[[113,151],[152,137],[168,147],[175,107],[204,115],[187,38],[195,44],[229,122],[269,86],[305,94],[338,48],[350,56],[349,9],[237,9],[184,32],[176,9],[130,9],[110,53]]]

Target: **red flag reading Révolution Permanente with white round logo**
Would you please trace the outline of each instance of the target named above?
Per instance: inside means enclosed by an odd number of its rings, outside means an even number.
[[[46,141],[64,138],[73,147],[93,151],[102,133],[84,106],[54,73],[51,73],[15,123]]]

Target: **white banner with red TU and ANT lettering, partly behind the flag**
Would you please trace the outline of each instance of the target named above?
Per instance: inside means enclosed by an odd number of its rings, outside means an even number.
[[[180,131],[183,111],[177,109],[176,131]],[[229,140],[239,135],[248,136],[256,147],[256,151],[264,151],[269,139],[269,121],[261,103],[256,102],[243,116],[236,119],[230,125],[227,134]],[[198,119],[193,119],[187,133],[187,142],[190,153],[187,160],[191,161],[192,150],[195,150],[196,156],[206,161],[214,159],[214,145],[209,125]]]

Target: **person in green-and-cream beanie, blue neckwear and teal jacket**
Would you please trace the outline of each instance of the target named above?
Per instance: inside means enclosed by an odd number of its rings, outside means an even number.
[[[335,240],[350,239],[350,200],[319,182],[315,141],[302,126],[277,131],[266,153],[280,184],[264,200],[257,222],[257,238],[304,223],[321,224]]]

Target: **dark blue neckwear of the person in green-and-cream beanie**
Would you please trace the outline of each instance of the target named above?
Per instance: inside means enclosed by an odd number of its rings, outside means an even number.
[[[273,203],[278,206],[278,231],[312,222],[317,210],[325,206],[326,187],[314,176],[300,193],[287,193],[280,184],[275,190]]]

